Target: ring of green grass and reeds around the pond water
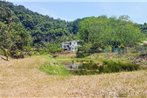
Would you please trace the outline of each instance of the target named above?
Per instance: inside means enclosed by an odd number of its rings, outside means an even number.
[[[102,60],[99,60],[101,58],[48,58],[50,63],[45,63],[41,65],[39,68],[41,71],[44,71],[48,73],[49,75],[94,75],[94,74],[101,74],[101,73],[114,73],[114,72],[123,72],[123,71],[135,71],[139,70],[142,67],[138,64],[133,64],[132,62],[129,62],[127,60],[122,61],[119,59],[113,59],[107,60],[106,58],[103,58]],[[78,69],[67,69],[63,63],[69,63],[70,61],[75,61],[75,63],[78,63]]]

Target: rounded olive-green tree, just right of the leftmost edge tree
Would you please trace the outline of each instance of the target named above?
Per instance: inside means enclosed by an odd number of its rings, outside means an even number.
[[[19,23],[13,23],[13,36],[11,40],[13,45],[11,46],[11,57],[24,58],[31,51],[32,38],[28,31]]]

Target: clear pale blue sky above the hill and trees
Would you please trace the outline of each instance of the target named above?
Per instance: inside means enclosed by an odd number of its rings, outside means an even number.
[[[147,22],[146,0],[7,0],[16,5],[67,21],[89,16],[128,15],[133,22]]]

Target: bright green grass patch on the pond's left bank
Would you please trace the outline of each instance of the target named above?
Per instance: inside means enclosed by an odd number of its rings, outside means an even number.
[[[70,75],[69,71],[66,70],[66,68],[63,65],[49,65],[48,63],[45,63],[40,67],[40,70],[48,73],[49,75]]]

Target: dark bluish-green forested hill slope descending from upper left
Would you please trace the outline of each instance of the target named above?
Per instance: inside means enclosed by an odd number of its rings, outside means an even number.
[[[60,37],[76,33],[76,31],[72,30],[72,22],[54,19],[47,15],[44,16],[22,5],[14,5],[9,2],[0,1],[0,7],[3,9],[9,8],[9,10],[12,11],[11,17],[13,18],[13,22],[20,22],[21,25],[31,33],[34,38],[33,41],[36,43],[41,41],[57,42],[57,40],[62,40]]]

